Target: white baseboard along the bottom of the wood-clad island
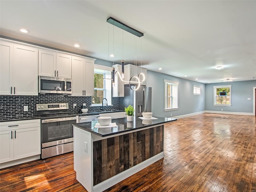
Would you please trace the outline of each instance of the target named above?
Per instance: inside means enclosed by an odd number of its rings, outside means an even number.
[[[139,172],[140,170],[146,168],[147,166],[150,166],[152,163],[162,159],[163,157],[164,157],[164,152],[161,152],[161,153],[153,156],[152,158],[149,158],[149,159],[141,162],[140,164],[133,166],[132,168],[125,170],[125,171],[109,178],[108,180],[105,180],[105,181],[93,186],[93,191],[94,192],[102,192],[102,191],[110,188],[111,186],[119,183],[120,181],[132,176],[136,172]]]

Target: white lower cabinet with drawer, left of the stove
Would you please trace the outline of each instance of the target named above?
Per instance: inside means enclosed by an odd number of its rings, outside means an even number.
[[[41,154],[40,119],[0,122],[0,163]]]

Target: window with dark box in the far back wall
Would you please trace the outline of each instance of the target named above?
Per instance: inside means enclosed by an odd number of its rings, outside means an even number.
[[[231,106],[231,85],[213,86],[214,105]]]

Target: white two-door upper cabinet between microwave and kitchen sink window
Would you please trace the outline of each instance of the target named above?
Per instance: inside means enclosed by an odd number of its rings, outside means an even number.
[[[72,57],[72,96],[94,95],[94,61]]]

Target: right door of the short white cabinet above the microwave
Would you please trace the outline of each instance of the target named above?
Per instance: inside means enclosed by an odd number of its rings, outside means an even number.
[[[71,79],[71,56],[56,54],[56,77]]]

